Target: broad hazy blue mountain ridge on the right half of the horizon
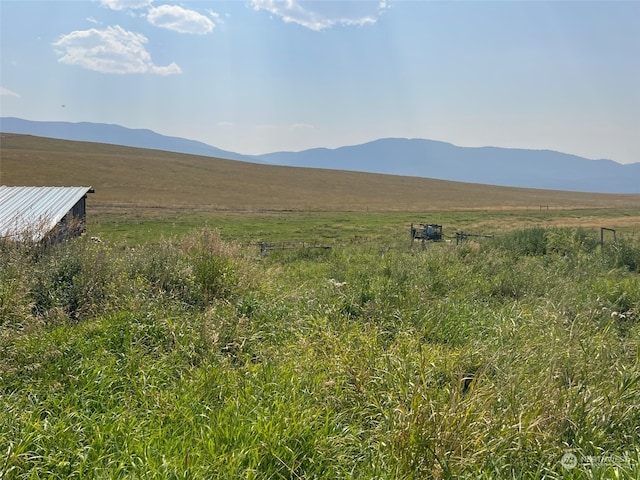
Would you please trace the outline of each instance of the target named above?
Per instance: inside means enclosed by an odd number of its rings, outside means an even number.
[[[523,188],[640,193],[640,163],[589,160],[551,150],[458,147],[424,139],[386,138],[334,150],[260,156],[278,165],[399,174]]]

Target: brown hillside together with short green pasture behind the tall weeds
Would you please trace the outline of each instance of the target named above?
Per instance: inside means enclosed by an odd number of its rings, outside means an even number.
[[[640,231],[640,195],[274,167],[1,135],[0,183],[93,186],[90,229],[112,241],[158,241],[202,225],[237,241],[393,241],[411,222],[443,224],[450,238],[460,230],[495,235],[525,226]]]

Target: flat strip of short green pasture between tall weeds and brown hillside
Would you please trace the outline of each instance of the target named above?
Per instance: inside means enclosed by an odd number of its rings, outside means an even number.
[[[89,214],[92,236],[118,244],[158,243],[208,227],[224,240],[258,242],[306,241],[325,244],[379,241],[403,245],[411,223],[443,225],[445,239],[456,232],[498,236],[516,228],[573,226],[598,231],[614,228],[621,234],[640,231],[638,209],[460,210],[437,212],[190,212],[168,209],[131,209],[122,213]]]

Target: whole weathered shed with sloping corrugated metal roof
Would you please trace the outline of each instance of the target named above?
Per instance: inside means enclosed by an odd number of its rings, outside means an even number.
[[[0,186],[0,240],[57,243],[86,231],[91,187]]]

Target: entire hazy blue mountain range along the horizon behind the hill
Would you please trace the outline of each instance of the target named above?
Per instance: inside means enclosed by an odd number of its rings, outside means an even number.
[[[99,123],[0,118],[0,131],[108,143],[271,165],[425,177],[468,183],[599,193],[640,193],[640,162],[620,164],[551,151],[459,147],[384,138],[362,145],[243,155],[146,129]]]

